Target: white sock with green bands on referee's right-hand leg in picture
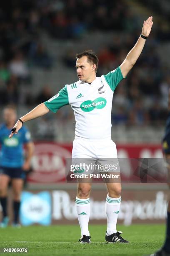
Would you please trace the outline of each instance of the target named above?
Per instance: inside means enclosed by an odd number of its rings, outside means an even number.
[[[116,233],[117,217],[120,210],[121,197],[112,198],[107,195],[105,212],[107,215],[107,234]]]

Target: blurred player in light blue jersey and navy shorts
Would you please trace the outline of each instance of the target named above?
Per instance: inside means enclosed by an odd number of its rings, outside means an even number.
[[[13,188],[13,226],[19,227],[20,194],[23,189],[25,171],[30,169],[34,145],[30,140],[30,132],[25,126],[20,129],[18,135],[13,137],[12,140],[8,138],[9,132],[17,119],[14,106],[5,107],[3,117],[5,123],[0,126],[0,203],[2,206],[0,227],[6,227],[9,222],[7,216],[7,189],[10,181]]]

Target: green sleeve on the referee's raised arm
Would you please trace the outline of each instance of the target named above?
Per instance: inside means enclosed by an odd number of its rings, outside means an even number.
[[[104,75],[104,77],[105,77],[107,84],[109,84],[111,90],[114,92],[114,90],[117,87],[117,84],[123,79],[123,75],[120,70],[120,66],[117,69]]]

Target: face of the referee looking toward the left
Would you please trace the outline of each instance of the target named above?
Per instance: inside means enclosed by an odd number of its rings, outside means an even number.
[[[87,56],[77,59],[75,67],[80,81],[92,82],[90,80],[93,80],[95,77],[96,65],[88,62]]]

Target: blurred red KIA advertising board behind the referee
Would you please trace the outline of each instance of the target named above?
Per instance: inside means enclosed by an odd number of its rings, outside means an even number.
[[[65,182],[65,161],[71,158],[71,151],[71,143],[36,142],[35,154],[32,158],[33,172],[29,174],[28,182],[48,184]],[[149,144],[117,144],[117,154],[121,159],[163,157],[161,145]],[[123,169],[121,174],[122,181],[126,181],[127,174]]]

